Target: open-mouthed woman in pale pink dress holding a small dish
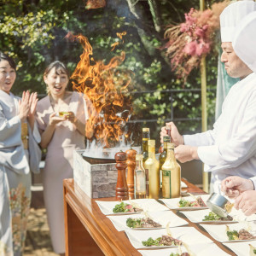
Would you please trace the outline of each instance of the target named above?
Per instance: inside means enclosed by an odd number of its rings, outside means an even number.
[[[73,150],[84,148],[88,99],[67,90],[68,71],[60,61],[44,72],[48,96],[38,102],[41,147],[47,148],[43,184],[49,232],[55,253],[65,253],[63,179],[73,177]]]

